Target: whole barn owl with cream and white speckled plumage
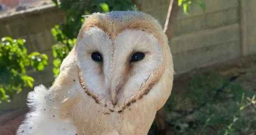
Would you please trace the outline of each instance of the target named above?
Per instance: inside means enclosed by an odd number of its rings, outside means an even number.
[[[167,37],[152,16],[95,13],[53,86],[28,94],[30,112],[17,135],[147,135],[173,73]]]

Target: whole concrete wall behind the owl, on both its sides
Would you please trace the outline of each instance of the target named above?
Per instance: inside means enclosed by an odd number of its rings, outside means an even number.
[[[165,23],[169,1],[134,0],[141,11],[157,18],[162,26]],[[180,8],[173,23],[173,37],[169,37],[169,43],[177,74],[256,52],[255,0],[204,2],[205,11],[197,5],[192,5],[189,15],[184,15]],[[0,37],[25,38],[29,51],[40,51],[49,56],[50,66],[45,71],[30,71],[30,75],[35,78],[35,85],[51,85],[51,46],[54,39],[50,29],[62,22],[63,18],[64,13],[53,5],[6,17],[0,16]],[[0,104],[0,109],[24,107],[27,91],[16,96],[10,104]]]

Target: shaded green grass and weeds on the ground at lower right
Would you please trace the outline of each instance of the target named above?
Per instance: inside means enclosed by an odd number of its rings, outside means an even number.
[[[193,75],[165,111],[175,135],[248,135],[256,129],[256,91],[217,73]],[[174,92],[177,89],[173,89]],[[177,91],[176,91],[177,92]],[[154,135],[153,124],[150,135]]]

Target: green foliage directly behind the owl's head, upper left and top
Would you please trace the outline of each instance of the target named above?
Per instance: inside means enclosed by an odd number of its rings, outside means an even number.
[[[52,28],[52,35],[58,44],[52,46],[54,55],[54,75],[59,74],[59,67],[63,59],[69,54],[76,43],[76,36],[85,18],[95,12],[126,11],[135,9],[132,0],[52,0],[58,7],[65,11],[65,23]]]

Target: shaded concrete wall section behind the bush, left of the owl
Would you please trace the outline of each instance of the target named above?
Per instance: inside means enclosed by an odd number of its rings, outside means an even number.
[[[0,16],[0,37],[24,38],[28,52],[39,51],[48,55],[49,66],[44,71],[35,72],[32,69],[28,71],[28,75],[35,79],[35,86],[44,84],[49,87],[54,81],[52,45],[55,40],[51,34],[51,28],[63,22],[64,16],[63,11],[60,11],[54,4],[20,11],[13,15]],[[24,108],[27,93],[31,90],[24,89],[20,94],[15,95],[14,100],[10,103],[2,102],[0,111]]]

